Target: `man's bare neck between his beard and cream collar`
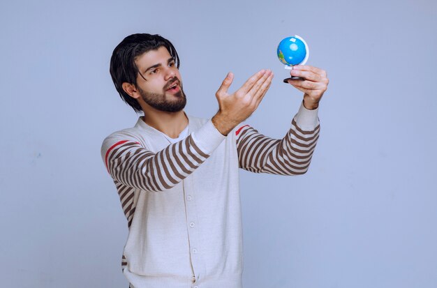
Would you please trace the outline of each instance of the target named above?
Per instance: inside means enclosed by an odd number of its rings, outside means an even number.
[[[171,138],[177,138],[188,125],[184,110],[179,112],[163,112],[156,109],[143,109],[142,121]]]

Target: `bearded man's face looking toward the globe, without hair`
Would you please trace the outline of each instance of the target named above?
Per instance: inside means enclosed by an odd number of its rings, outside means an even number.
[[[137,89],[147,105],[164,112],[184,109],[186,97],[181,75],[167,48],[146,52],[135,63],[142,75],[137,76]]]

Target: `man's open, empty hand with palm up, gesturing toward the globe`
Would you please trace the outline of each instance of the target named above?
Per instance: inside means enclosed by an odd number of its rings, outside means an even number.
[[[228,135],[258,108],[272,84],[273,73],[271,70],[260,70],[247,79],[240,89],[230,94],[228,89],[233,79],[234,75],[228,73],[216,92],[218,112],[212,117],[212,123],[222,135]]]

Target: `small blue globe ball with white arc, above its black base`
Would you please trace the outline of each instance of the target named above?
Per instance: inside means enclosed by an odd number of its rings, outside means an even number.
[[[288,66],[302,63],[307,54],[306,43],[301,40],[302,38],[299,39],[297,37],[284,38],[278,45],[277,54],[279,61]]]

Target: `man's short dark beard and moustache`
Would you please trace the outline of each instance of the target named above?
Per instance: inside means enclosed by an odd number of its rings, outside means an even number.
[[[170,84],[178,82],[180,90],[173,94],[173,98],[169,100],[166,96],[166,91],[169,88]],[[184,109],[186,105],[186,96],[184,90],[182,89],[182,83],[177,79],[177,77],[173,77],[168,81],[167,84],[163,87],[163,93],[149,92],[144,91],[140,87],[138,88],[138,92],[140,92],[142,100],[145,101],[150,107],[153,107],[157,110],[163,112],[179,112]]]

